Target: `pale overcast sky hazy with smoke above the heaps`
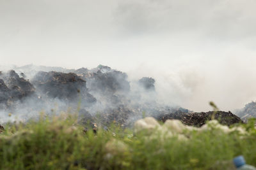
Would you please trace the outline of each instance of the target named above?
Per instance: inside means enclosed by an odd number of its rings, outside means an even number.
[[[107,65],[194,111],[256,100],[255,0],[0,0],[0,65]]]

